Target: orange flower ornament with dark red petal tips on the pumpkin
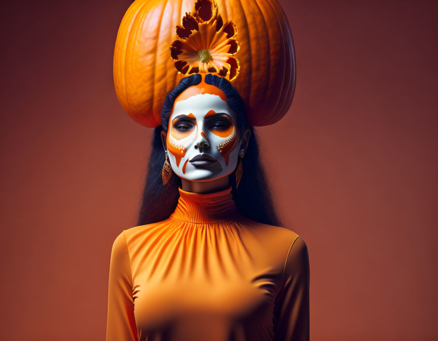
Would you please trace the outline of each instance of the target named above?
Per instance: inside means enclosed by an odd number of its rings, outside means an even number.
[[[194,10],[182,18],[182,27],[176,26],[176,35],[170,55],[180,74],[215,74],[229,81],[238,76],[236,25],[232,21],[224,24],[214,0],[198,0]]]

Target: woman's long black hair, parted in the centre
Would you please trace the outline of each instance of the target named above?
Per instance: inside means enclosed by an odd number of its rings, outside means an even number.
[[[154,130],[152,151],[149,157],[148,174],[143,190],[138,225],[165,220],[175,210],[179,197],[178,186],[180,186],[181,181],[174,174],[170,181],[163,185],[161,170],[165,154],[161,141],[161,131],[167,132],[175,98],[189,86],[199,84],[201,79],[201,75],[198,74],[183,78],[176,88],[167,95],[164,101],[161,112],[161,126],[156,127]],[[214,85],[224,91],[227,96],[228,105],[236,114],[239,131],[243,132],[245,129],[249,129],[251,132],[248,148],[245,156],[241,159],[243,175],[238,189],[236,189],[235,173],[233,172],[229,177],[230,185],[232,186],[231,192],[238,211],[252,220],[279,226],[280,221],[274,208],[263,166],[259,160],[257,137],[252,126],[246,121],[242,98],[236,88],[225,78],[208,74],[204,80],[205,83]]]

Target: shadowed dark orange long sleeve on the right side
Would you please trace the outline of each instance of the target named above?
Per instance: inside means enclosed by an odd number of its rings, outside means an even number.
[[[289,248],[283,285],[275,300],[274,341],[309,340],[309,254],[297,236]]]

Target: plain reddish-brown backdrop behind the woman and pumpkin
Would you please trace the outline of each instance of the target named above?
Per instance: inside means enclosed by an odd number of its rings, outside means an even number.
[[[438,339],[436,2],[280,3],[297,89],[258,132],[309,248],[311,339]],[[3,6],[0,339],[103,340],[152,132],[112,83],[129,1]]]

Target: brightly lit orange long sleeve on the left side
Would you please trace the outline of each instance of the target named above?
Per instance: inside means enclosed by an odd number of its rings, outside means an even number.
[[[132,276],[125,231],[113,244],[109,262],[106,341],[138,340],[132,299]]]

